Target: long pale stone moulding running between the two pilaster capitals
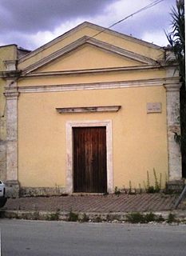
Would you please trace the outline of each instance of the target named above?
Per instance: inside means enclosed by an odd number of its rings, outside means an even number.
[[[78,83],[68,85],[42,85],[42,86],[20,86],[20,93],[43,93],[43,92],[60,92],[72,90],[106,90],[120,89],[130,87],[145,87],[145,86],[164,86],[168,82],[166,78],[156,78],[147,80],[121,81],[121,82],[93,82],[93,83]]]

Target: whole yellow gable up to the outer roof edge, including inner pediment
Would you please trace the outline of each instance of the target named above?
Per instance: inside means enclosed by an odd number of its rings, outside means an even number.
[[[23,75],[38,70],[49,70],[49,66],[53,70],[57,62],[62,70],[97,68],[97,65],[77,67],[74,63],[70,66],[69,56],[77,58],[78,53],[77,62],[81,63],[83,57],[84,61],[89,60],[90,49],[91,53],[94,53],[94,63],[99,63],[98,68],[105,68],[104,63],[101,64],[97,59],[98,53],[99,58],[107,59],[106,67],[156,65],[164,55],[164,50],[159,46],[84,22],[19,59],[18,69],[22,70]]]

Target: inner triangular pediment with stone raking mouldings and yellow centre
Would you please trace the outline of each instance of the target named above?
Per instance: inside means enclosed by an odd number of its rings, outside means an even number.
[[[151,58],[84,36],[26,67],[23,73],[153,64],[156,62]]]

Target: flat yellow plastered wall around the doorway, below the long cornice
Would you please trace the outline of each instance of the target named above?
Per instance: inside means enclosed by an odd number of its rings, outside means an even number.
[[[163,86],[21,94],[18,99],[18,179],[21,186],[65,186],[65,123],[112,120],[113,186],[138,187],[149,171],[167,173],[166,102]],[[147,114],[147,102],[162,113]],[[117,113],[58,114],[57,107],[121,105]]]

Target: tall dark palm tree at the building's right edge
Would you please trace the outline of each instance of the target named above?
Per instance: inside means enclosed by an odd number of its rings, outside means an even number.
[[[180,82],[180,125],[181,136],[176,134],[182,153],[182,174],[186,178],[186,86],[185,86],[185,30],[184,30],[184,0],[176,0],[172,8],[172,32],[167,34],[171,51],[175,54],[179,66]]]

